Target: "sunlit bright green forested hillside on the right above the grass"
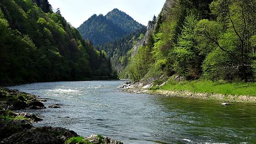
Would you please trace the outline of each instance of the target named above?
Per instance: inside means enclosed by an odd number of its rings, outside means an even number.
[[[127,70],[141,80],[255,81],[256,0],[167,0]]]

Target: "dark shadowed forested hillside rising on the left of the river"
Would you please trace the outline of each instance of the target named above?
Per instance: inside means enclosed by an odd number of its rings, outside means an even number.
[[[109,78],[110,60],[48,0],[0,1],[0,85]]]

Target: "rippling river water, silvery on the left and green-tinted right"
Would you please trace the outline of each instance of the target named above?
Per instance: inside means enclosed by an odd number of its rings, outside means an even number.
[[[81,136],[102,134],[124,144],[256,144],[256,106],[123,93],[124,81],[33,83],[9,87],[59,109],[27,110]]]

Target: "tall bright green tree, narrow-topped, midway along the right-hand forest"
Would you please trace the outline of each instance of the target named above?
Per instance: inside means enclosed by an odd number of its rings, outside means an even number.
[[[181,35],[174,48],[176,57],[174,69],[177,74],[188,79],[197,79],[201,71],[201,55],[197,49],[197,40],[194,29],[197,25],[197,17],[190,14],[186,17]]]

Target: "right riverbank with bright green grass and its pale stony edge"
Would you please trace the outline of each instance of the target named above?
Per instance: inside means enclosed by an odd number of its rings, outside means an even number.
[[[256,103],[255,83],[226,83],[224,81],[141,81],[123,86],[124,92],[147,93],[203,100]]]

